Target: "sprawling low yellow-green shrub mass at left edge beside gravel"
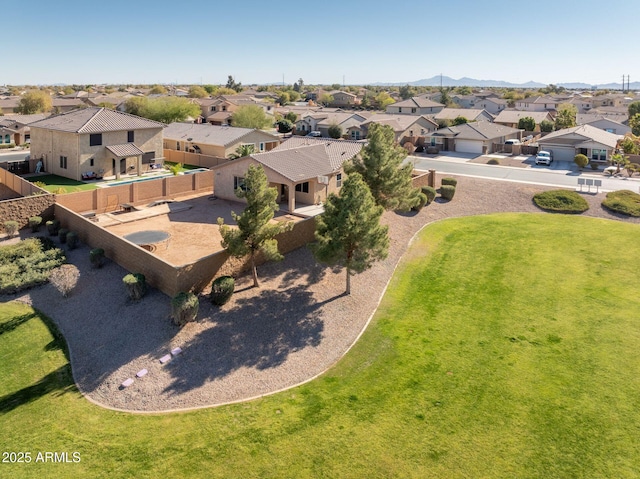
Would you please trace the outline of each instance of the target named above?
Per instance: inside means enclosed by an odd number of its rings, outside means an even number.
[[[38,238],[0,247],[0,294],[15,293],[46,282],[49,272],[64,261],[62,250],[46,249]]]

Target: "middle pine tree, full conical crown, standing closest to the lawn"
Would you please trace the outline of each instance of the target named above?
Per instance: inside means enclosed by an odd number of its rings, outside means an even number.
[[[316,243],[311,245],[321,263],[346,268],[346,294],[351,294],[351,275],[369,269],[385,259],[389,250],[389,227],[380,225],[384,212],[376,205],[369,188],[358,173],[345,180],[340,195],[331,193],[324,213],[316,217]]]

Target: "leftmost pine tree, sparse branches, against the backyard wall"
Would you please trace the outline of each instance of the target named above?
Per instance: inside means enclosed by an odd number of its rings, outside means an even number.
[[[224,224],[224,219],[218,218],[222,247],[231,256],[242,258],[249,255],[253,273],[253,285],[258,287],[258,273],[255,257],[262,253],[268,261],[279,261],[283,256],[278,251],[278,240],[275,236],[293,228],[293,223],[271,224],[273,213],[278,210],[276,197],[278,191],[269,188],[267,175],[261,166],[251,165],[247,171],[245,183],[236,190],[238,198],[247,200],[247,207],[241,215],[231,212],[231,216],[238,224],[237,228]]]

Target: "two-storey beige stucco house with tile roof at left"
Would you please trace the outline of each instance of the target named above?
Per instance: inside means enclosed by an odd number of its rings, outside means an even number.
[[[31,157],[74,180],[140,175],[162,162],[163,123],[108,108],[84,108],[31,123]]]

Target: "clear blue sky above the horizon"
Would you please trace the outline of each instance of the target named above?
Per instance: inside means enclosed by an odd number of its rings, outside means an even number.
[[[5,8],[0,84],[634,82],[638,18],[639,0],[36,0]]]

